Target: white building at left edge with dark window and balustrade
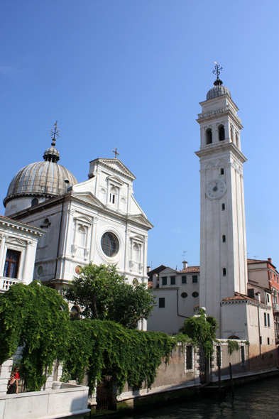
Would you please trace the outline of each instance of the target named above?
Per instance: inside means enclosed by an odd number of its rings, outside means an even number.
[[[31,283],[42,229],[0,216],[0,293],[14,283]]]

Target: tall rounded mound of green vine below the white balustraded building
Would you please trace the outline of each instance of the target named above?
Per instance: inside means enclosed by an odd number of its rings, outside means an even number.
[[[0,296],[0,365],[21,352],[28,389],[40,390],[55,359],[65,357],[69,312],[57,291],[33,282],[17,283]]]

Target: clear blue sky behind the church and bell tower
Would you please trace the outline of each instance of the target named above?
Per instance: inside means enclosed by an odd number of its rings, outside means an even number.
[[[248,257],[278,243],[278,1],[2,0],[1,200],[42,160],[56,120],[60,164],[120,160],[154,224],[148,264],[199,264],[199,125],[214,61],[244,129]],[[2,207],[1,214],[4,214]]]

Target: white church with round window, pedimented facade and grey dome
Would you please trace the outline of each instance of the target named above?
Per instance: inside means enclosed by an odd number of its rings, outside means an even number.
[[[133,197],[135,176],[118,158],[89,163],[77,183],[58,164],[53,143],[44,161],[21,169],[4,200],[5,215],[43,229],[33,279],[60,290],[90,261],[113,263],[130,283],[147,283],[148,230],[153,227]]]

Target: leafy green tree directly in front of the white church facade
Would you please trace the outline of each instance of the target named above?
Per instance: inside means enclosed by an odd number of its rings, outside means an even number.
[[[89,319],[110,320],[135,329],[138,320],[148,319],[155,298],[146,285],[130,285],[116,265],[89,265],[64,288],[63,296],[80,305]]]

